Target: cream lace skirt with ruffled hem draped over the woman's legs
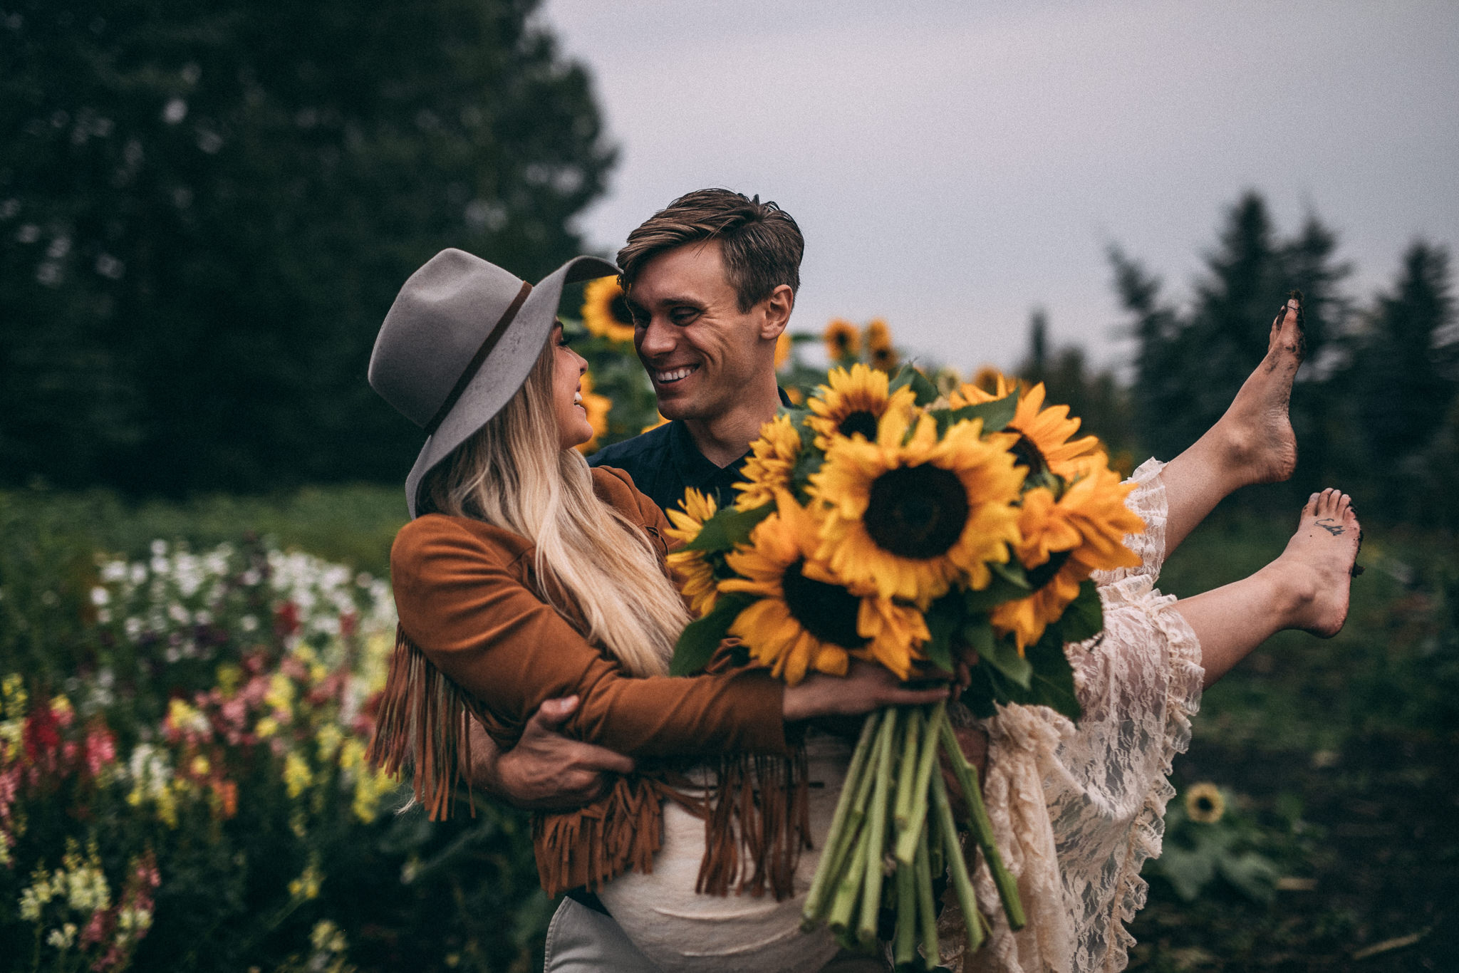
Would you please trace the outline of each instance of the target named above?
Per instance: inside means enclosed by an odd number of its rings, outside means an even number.
[[[989,815],[1018,877],[1029,925],[1008,929],[980,864],[979,903],[994,935],[966,964],[944,955],[954,969],[1103,972],[1128,963],[1134,938],[1125,923],[1145,903],[1139,869],[1160,853],[1166,802],[1174,795],[1166,775],[1191,741],[1204,675],[1195,633],[1173,610],[1174,598],[1154,588],[1164,559],[1160,470],[1156,461],[1144,464],[1126,500],[1145,521],[1142,534],[1126,538],[1141,565],[1096,575],[1104,632],[1065,646],[1084,710],[1078,726],[1023,706],[985,724]],[[956,934],[960,916],[945,925]]]

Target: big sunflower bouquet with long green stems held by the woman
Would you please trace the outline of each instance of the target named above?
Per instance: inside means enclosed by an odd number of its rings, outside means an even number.
[[[670,511],[684,546],[670,554],[699,619],[673,671],[706,665],[721,642],[788,684],[840,675],[852,659],[905,681],[967,667],[961,702],[1043,705],[1077,719],[1065,643],[1103,627],[1090,575],[1132,566],[1128,486],[1099,441],[1074,439],[1078,419],[1045,408],[1043,387],[940,395],[907,366],[894,378],[835,369],[804,408],[760,430],[731,506],[693,490]],[[945,759],[967,813],[961,821]],[[843,945],[871,947],[884,909],[893,953],[932,961],[932,881],[943,874],[966,918],[969,947],[986,935],[960,829],[1023,926],[1017,883],[1004,868],[978,770],[957,744],[945,705],[890,706],[861,732],[804,906],[807,929],[830,923]],[[976,859],[975,859],[976,865]]]

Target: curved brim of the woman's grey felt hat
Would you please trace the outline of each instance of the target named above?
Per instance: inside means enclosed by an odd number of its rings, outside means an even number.
[[[487,423],[502,407],[516,394],[516,389],[527,381],[527,375],[537,363],[547,336],[557,321],[557,303],[562,301],[562,289],[581,280],[595,280],[610,277],[619,268],[598,257],[573,257],[566,264],[543,277],[541,283],[533,287],[522,302],[521,311],[496,347],[481,363],[480,371],[463,389],[451,411],[436,427],[435,433],[426,439],[416,457],[416,465],[406,477],[406,503],[410,506],[410,519],[416,519],[416,495],[420,481],[432,468],[445,460],[452,449],[471,438]]]

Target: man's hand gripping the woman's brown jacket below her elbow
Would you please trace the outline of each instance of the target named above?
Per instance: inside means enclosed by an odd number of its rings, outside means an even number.
[[[604,773],[632,773],[632,759],[557,732],[576,709],[576,696],[547,700],[506,753],[473,719],[471,783],[519,808],[566,811],[603,794]]]

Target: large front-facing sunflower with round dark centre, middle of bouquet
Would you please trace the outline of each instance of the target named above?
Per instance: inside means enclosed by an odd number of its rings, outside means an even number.
[[[941,441],[931,416],[889,408],[877,438],[832,438],[811,495],[826,506],[820,556],[837,578],[925,608],[954,582],[986,588],[986,562],[1018,541],[1024,473],[1015,438],[979,419]],[[910,433],[910,435],[909,435]]]

